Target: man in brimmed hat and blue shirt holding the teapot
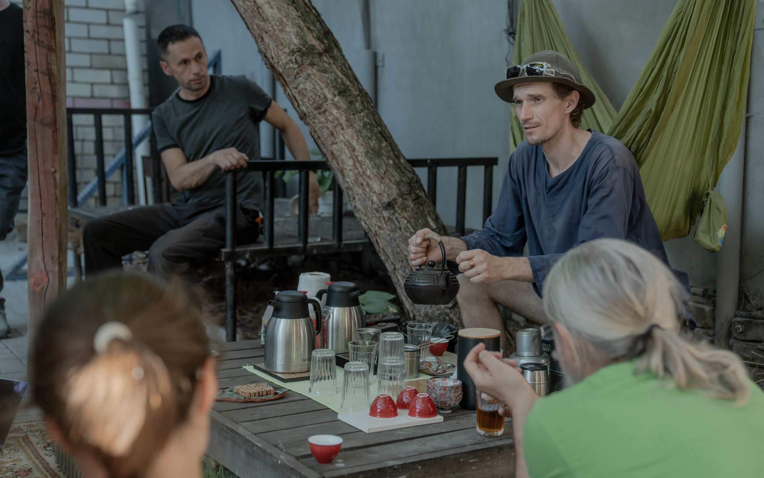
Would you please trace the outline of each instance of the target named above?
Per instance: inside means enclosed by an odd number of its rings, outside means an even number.
[[[510,156],[496,210],[484,229],[443,238],[446,259],[463,272],[457,299],[465,326],[503,331],[497,304],[544,324],[544,278],[581,242],[626,239],[669,265],[633,154],[616,138],[579,127],[595,98],[571,60],[540,51],[507,68],[494,89],[516,106],[527,140]],[[413,265],[441,259],[439,246],[424,239],[428,232],[422,229],[409,239]],[[689,298],[687,274],[675,274]],[[688,313],[685,319],[694,324]],[[504,333],[502,344],[509,349]]]

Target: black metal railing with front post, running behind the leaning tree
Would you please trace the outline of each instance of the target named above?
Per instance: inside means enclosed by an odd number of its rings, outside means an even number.
[[[445,158],[445,159],[410,159],[413,167],[428,169],[427,193],[435,205],[437,189],[437,169],[439,167],[458,167],[456,194],[456,231],[457,236],[465,235],[465,214],[467,203],[467,168],[483,166],[483,222],[492,211],[494,166],[498,158]],[[284,169],[299,171],[299,215],[297,218],[297,243],[276,244],[274,242],[274,197],[276,187],[274,173]],[[355,252],[372,249],[371,241],[342,238],[342,189],[337,180],[332,183],[332,240],[308,242],[308,180],[312,170],[329,169],[325,161],[248,161],[247,167],[237,172],[261,172],[263,174],[265,210],[263,211],[263,244],[236,246],[236,174],[225,175],[225,249],[221,259],[225,263],[225,337],[228,342],[236,340],[236,272],[235,262],[239,259],[251,260],[257,257],[277,255],[312,255],[332,252]],[[282,181],[283,182],[283,181]]]

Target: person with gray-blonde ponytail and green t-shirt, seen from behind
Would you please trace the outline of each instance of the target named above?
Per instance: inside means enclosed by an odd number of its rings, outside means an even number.
[[[680,285],[659,259],[586,242],[543,297],[566,389],[539,398],[483,345],[465,360],[512,412],[516,476],[762,476],[764,393],[733,353],[679,336]]]

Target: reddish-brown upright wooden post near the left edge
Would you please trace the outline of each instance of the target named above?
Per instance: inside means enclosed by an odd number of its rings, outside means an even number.
[[[24,0],[29,151],[29,343],[66,290],[66,74],[63,2]]]

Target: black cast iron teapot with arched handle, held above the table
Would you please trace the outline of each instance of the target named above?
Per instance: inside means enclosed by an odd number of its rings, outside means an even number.
[[[437,234],[429,233],[425,239],[438,241],[442,253],[442,267],[435,268],[435,261],[427,262],[427,268],[418,268],[403,282],[403,290],[414,304],[445,305],[454,300],[459,291],[459,281],[455,275],[445,268],[445,247]]]

